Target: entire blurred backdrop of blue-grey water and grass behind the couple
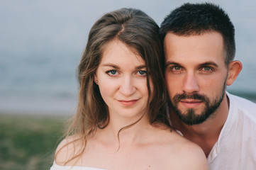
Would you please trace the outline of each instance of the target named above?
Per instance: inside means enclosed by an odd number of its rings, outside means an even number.
[[[104,13],[140,8],[160,26],[184,0],[0,0],[0,169],[50,169],[77,103],[76,68]],[[256,1],[216,0],[235,26],[243,70],[228,91],[256,101]]]

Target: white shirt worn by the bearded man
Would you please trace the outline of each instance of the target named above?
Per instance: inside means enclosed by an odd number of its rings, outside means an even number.
[[[209,169],[256,169],[256,104],[227,95],[228,118],[208,155]]]

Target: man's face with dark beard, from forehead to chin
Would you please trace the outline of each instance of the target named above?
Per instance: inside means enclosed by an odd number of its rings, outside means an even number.
[[[187,125],[215,113],[226,89],[228,69],[220,33],[165,36],[165,79],[170,106]]]

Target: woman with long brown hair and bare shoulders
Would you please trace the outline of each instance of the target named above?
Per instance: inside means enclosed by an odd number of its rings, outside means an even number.
[[[165,123],[158,29],[133,8],[106,13],[92,26],[72,133],[51,170],[208,169],[204,152]]]

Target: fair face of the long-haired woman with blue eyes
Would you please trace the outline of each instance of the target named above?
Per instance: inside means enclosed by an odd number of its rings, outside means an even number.
[[[138,120],[148,103],[145,61],[119,40],[108,42],[94,81],[113,117]],[[150,80],[151,94],[153,86]]]

